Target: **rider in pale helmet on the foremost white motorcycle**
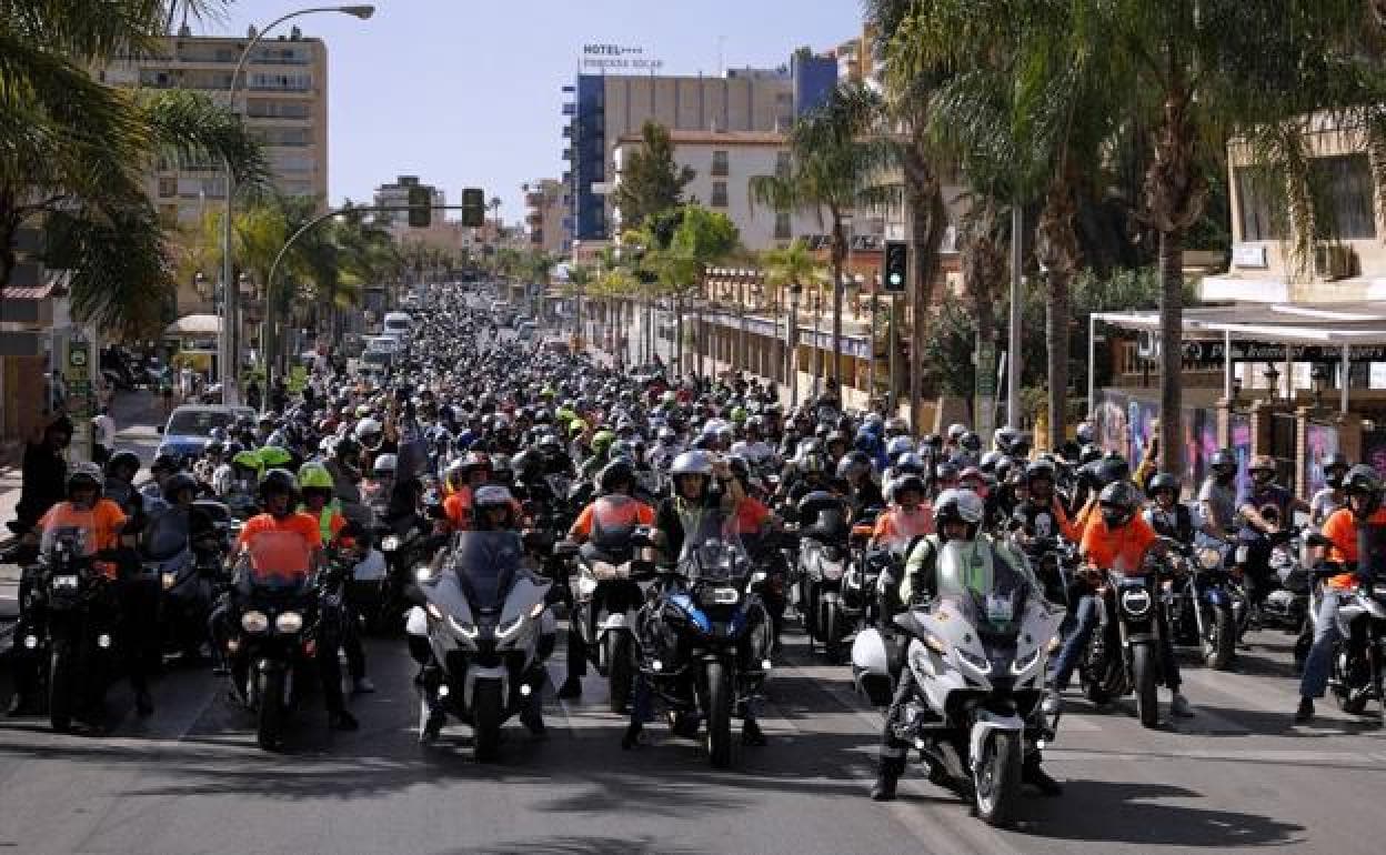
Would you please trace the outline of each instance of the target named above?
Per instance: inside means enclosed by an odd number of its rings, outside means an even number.
[[[922,539],[909,553],[905,564],[905,578],[900,585],[900,603],[908,606],[916,599],[929,600],[940,592],[951,589],[973,588],[973,593],[985,594],[987,590],[976,590],[976,586],[990,586],[990,579],[955,579],[940,574],[938,554],[944,545],[959,540],[973,545],[974,549],[985,549],[991,553],[992,561],[1005,563],[1013,567],[1023,567],[1023,558],[1008,550],[1003,545],[992,540],[990,535],[980,532],[987,509],[981,497],[970,491],[949,489],[938,496],[934,503],[934,529]],[[992,575],[994,578],[994,575]],[[895,725],[900,714],[913,693],[913,672],[902,668],[900,685],[895,689],[894,701],[886,712],[886,726],[881,730],[880,761],[876,772],[876,783],[870,788],[875,801],[891,801],[895,798],[895,784],[905,773],[905,751],[908,746],[897,734]],[[1062,791],[1059,782],[1049,777],[1041,768],[1040,751],[1030,751],[1021,766],[1023,780],[1037,787],[1045,795],[1058,795]]]

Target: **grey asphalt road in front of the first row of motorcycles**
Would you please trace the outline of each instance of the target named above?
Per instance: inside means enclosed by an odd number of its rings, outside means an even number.
[[[624,722],[589,676],[581,703],[546,689],[549,737],[507,726],[502,761],[478,765],[467,729],[416,743],[414,665],[402,642],[369,646],[380,691],[352,701],[362,729],[301,716],[283,755],[208,672],[170,672],[141,721],[122,685],[114,736],[55,736],[0,721],[0,848],[18,852],[1189,852],[1275,847],[1379,852],[1386,737],[1331,704],[1293,728],[1288,639],[1265,633],[1246,673],[1185,669],[1198,718],[1145,730],[1130,708],[1073,701],[1048,768],[1066,783],[994,831],[916,776],[894,804],[866,798],[880,715],[841,667],[800,636],[769,687],[771,744],[712,770],[671,739],[621,751]],[[561,679],[561,647],[550,676]],[[3,678],[0,678],[3,679]],[[8,693],[0,687],[0,697]],[[1163,693],[1161,693],[1163,696]],[[1161,700],[1164,700],[1161,697]]]

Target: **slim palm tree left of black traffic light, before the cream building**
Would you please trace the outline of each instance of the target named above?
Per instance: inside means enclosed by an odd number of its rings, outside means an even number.
[[[751,201],[776,211],[812,209],[832,220],[833,244],[833,369],[841,381],[843,266],[847,261],[845,220],[881,162],[872,143],[863,143],[876,116],[877,98],[861,85],[834,89],[816,111],[794,122],[789,147],[794,164],[789,175],[758,175],[750,180]]]

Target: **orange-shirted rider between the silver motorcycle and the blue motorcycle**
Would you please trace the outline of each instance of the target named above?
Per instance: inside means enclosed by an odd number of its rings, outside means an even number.
[[[635,468],[626,460],[613,460],[597,477],[602,496],[582,509],[568,539],[584,545],[589,557],[624,554],[631,550],[631,535],[639,525],[654,525],[654,509],[631,497],[635,489]],[[597,594],[602,589],[597,589]],[[589,618],[607,606],[590,603]],[[588,672],[585,643],[575,626],[568,628],[568,676],[559,689],[560,698],[582,696],[582,675]]]

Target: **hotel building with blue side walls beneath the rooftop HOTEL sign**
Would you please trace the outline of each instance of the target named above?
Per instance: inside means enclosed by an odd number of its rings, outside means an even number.
[[[563,115],[570,116],[563,129],[570,170],[563,182],[571,236],[579,241],[611,237],[613,154],[646,121],[675,132],[784,132],[832,87],[827,72],[822,64],[796,61],[773,69],[733,68],[719,78],[579,75],[563,87],[572,96],[563,105]]]

